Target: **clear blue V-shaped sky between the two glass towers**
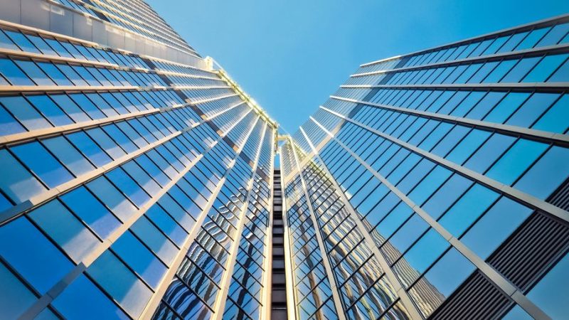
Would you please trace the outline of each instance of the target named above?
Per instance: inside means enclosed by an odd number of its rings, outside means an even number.
[[[289,133],[361,63],[569,12],[567,0],[147,0]]]

